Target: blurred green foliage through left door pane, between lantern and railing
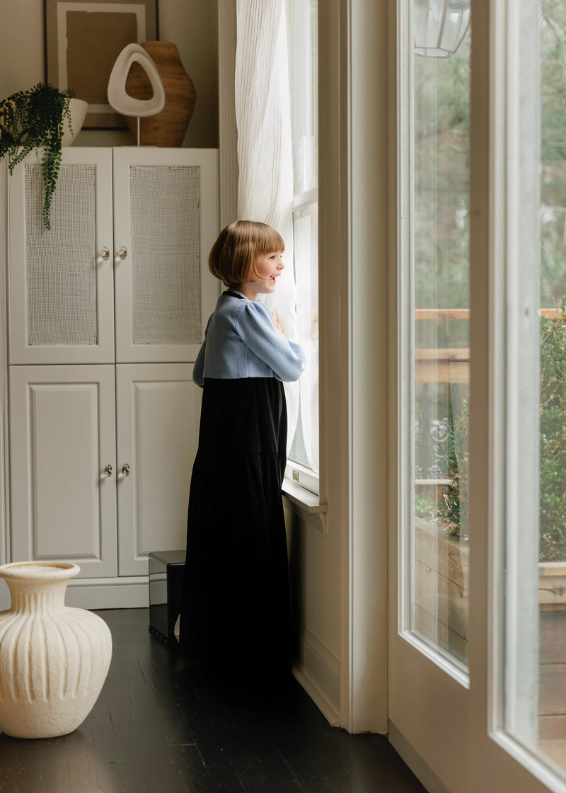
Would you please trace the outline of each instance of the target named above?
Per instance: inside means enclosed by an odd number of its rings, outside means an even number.
[[[415,57],[416,308],[469,306],[470,42]]]

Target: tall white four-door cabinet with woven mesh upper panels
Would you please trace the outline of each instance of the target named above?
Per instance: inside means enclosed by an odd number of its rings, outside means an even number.
[[[82,606],[143,605],[184,547],[216,155],[63,150],[49,232],[35,157],[9,179],[12,559],[76,562]]]

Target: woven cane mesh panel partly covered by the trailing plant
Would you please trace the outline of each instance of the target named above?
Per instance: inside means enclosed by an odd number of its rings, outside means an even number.
[[[95,345],[96,166],[62,165],[44,228],[39,163],[25,166],[25,277],[30,347]]]

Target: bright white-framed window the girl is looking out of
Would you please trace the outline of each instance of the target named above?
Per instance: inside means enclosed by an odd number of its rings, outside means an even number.
[[[286,476],[319,492],[317,0],[288,0],[297,336],[307,358]]]

